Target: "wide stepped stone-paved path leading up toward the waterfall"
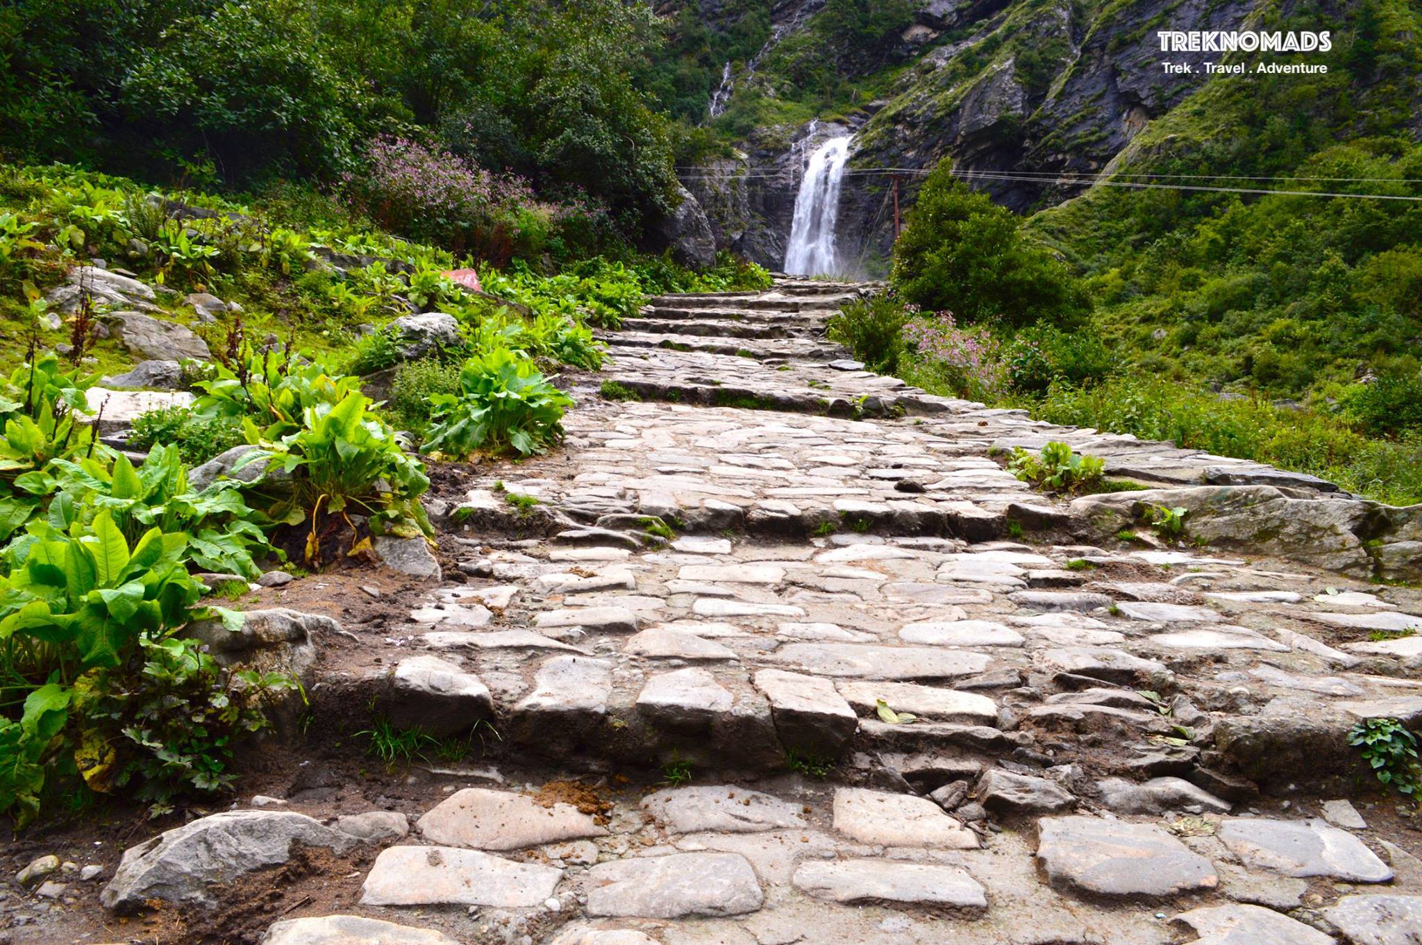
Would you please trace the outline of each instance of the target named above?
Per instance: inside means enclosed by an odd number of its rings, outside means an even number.
[[[857,291],[657,300],[609,337],[643,399],[580,391],[565,452],[434,510],[455,567],[381,705],[607,806],[451,777],[375,834],[360,918],[270,945],[1422,941],[1415,834],[1341,800],[1347,729],[1422,718],[1418,638],[1381,638],[1419,594],[1088,534],[991,452],[1349,500],[866,374],[822,338]]]

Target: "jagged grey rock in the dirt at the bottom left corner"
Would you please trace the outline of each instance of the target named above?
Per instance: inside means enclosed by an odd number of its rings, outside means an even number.
[[[358,841],[306,814],[276,810],[212,814],[125,850],[100,902],[111,909],[139,907],[148,900],[210,907],[216,904],[212,887],[286,863],[293,843],[344,854]]]

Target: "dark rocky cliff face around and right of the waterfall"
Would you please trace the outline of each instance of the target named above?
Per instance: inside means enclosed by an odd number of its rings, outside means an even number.
[[[776,41],[805,30],[815,3],[784,3],[772,17]],[[1170,54],[1193,74],[1165,75],[1156,30],[1250,28],[1263,0],[929,0],[913,26],[892,37],[907,58],[887,95],[845,117],[856,131],[852,168],[930,168],[951,156],[966,172],[1095,172],[1153,119],[1207,81],[1209,53]],[[704,10],[708,21],[715,13]],[[893,57],[890,57],[893,58]],[[741,77],[737,92],[776,77]],[[840,125],[843,126],[843,125]],[[741,156],[700,169],[688,188],[705,206],[722,247],[779,266],[789,232],[805,142],[818,125],[759,128]],[[1049,180],[1049,178],[1048,178]],[[902,179],[909,203],[916,175]],[[1071,186],[984,176],[974,186],[1015,210],[1058,203]],[[846,179],[840,250],[862,274],[883,270],[893,236],[887,176]]]

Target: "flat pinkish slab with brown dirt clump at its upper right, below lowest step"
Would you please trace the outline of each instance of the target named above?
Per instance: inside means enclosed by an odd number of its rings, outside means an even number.
[[[528,794],[485,787],[455,792],[415,826],[435,843],[476,850],[520,850],[607,833],[572,804],[547,807]]]

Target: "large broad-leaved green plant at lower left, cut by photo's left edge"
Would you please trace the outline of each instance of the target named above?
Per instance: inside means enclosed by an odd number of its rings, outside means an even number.
[[[0,813],[33,820],[46,787],[75,774],[101,793],[137,777],[154,799],[228,786],[230,739],[264,723],[267,691],[294,684],[223,674],[175,639],[209,614],[240,621],[195,610],[188,537],[151,529],[129,546],[108,510],[88,529],[30,531],[0,578]]]

